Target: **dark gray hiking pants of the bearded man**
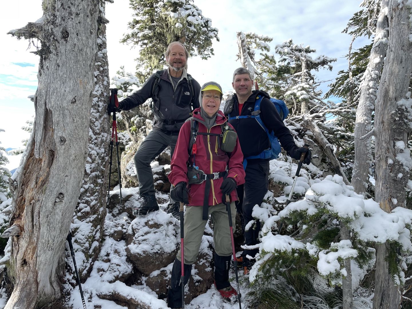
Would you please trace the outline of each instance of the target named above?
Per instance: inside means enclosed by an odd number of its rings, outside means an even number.
[[[143,140],[136,155],[134,155],[134,164],[139,181],[139,194],[155,194],[150,162],[160,155],[167,146],[170,146],[170,158],[172,158],[177,140],[177,135],[169,135],[160,130],[150,131],[149,135]]]

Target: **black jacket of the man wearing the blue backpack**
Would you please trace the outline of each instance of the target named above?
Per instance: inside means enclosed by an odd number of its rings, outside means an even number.
[[[269,100],[269,95],[265,91],[255,90],[243,104],[241,116],[251,115],[255,107],[256,97],[263,96],[260,103],[260,118],[269,131],[274,131],[276,137],[279,139],[282,147],[286,152],[297,148],[295,141],[289,129],[283,123],[275,105]],[[234,94],[229,97],[225,104],[225,116],[228,116],[228,110],[233,106],[230,117],[239,116],[239,101]],[[269,138],[267,134],[256,121],[255,118],[240,118],[229,120],[229,123],[234,126],[238,137],[243,156],[249,157],[260,154],[263,150],[269,148]],[[264,159],[251,159],[248,164],[267,161]]]

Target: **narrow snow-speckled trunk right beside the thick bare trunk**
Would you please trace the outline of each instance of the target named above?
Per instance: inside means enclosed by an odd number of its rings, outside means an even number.
[[[80,197],[72,222],[73,243],[79,275],[82,282],[93,269],[100,253],[103,225],[106,216],[109,148],[109,68],[106,44],[105,0],[100,0],[97,53],[94,63],[94,91],[89,124],[89,152],[83,175]],[[70,265],[71,261],[70,261]]]

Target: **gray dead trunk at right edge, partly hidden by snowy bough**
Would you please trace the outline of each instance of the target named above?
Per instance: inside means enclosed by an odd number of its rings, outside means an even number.
[[[412,72],[410,14],[406,0],[389,1],[388,51],[375,106],[375,200],[386,212],[405,206],[405,185],[412,165],[407,149],[410,114],[402,104],[408,96]],[[377,248],[374,309],[398,308],[400,302],[399,286],[385,261],[386,246],[384,243]]]

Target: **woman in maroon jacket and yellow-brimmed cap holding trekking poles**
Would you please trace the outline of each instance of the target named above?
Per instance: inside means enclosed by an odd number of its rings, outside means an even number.
[[[211,215],[215,223],[215,286],[228,301],[236,300],[236,290],[229,283],[229,265],[232,259],[232,243],[225,195],[230,195],[232,221],[236,216],[234,202],[238,200],[236,185],[245,182],[243,154],[236,138],[232,152],[221,149],[222,130],[233,130],[219,110],[222,88],[218,83],[208,82],[201,87],[201,108],[193,111],[193,117],[185,122],[179,132],[175,152],[171,161],[169,180],[174,185],[171,197],[186,204],[184,215],[184,273],[186,284],[190,278],[192,264],[196,261],[204,228]],[[194,127],[194,128],[193,128]],[[192,138],[191,132],[197,132]],[[197,171],[202,183],[188,185],[188,166]],[[192,178],[192,176],[191,176]],[[180,250],[173,264],[167,302],[171,308],[180,308],[181,295]]]

